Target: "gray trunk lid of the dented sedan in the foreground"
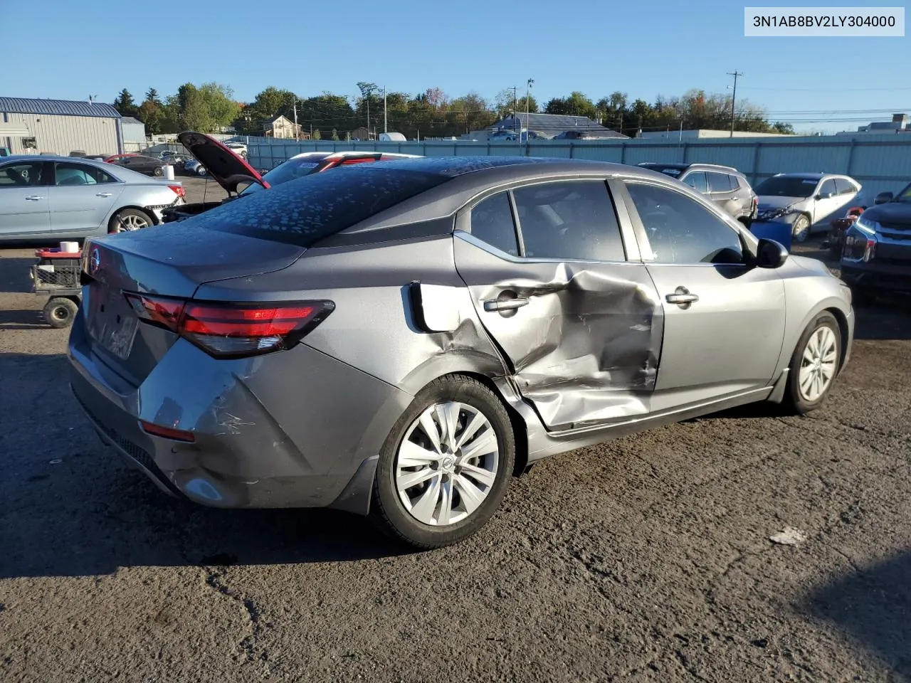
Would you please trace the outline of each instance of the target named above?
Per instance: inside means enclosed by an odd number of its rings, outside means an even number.
[[[87,240],[82,309],[88,351],[138,386],[178,336],[139,321],[126,292],[190,299],[203,283],[281,270],[304,251],[180,223]]]

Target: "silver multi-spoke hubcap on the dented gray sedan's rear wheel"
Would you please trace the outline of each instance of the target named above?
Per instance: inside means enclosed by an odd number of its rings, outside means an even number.
[[[454,525],[490,494],[498,464],[496,432],[484,413],[467,403],[436,403],[405,432],[395,488],[418,522]]]

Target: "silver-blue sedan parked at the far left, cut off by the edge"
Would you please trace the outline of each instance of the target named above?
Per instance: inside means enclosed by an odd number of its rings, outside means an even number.
[[[0,241],[81,240],[157,225],[184,203],[179,181],[87,158],[18,156],[0,163]]]

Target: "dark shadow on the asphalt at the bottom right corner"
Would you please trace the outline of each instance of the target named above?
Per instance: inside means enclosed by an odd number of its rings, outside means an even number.
[[[797,606],[829,622],[885,660],[889,680],[911,680],[911,552],[869,567],[855,567]]]

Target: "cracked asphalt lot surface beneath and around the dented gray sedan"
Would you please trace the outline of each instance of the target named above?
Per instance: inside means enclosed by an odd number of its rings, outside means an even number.
[[[31,253],[0,250],[0,680],[911,680],[902,304],[858,311],[823,410],[552,458],[476,537],[403,555],[349,515],[169,499],[107,452]]]

